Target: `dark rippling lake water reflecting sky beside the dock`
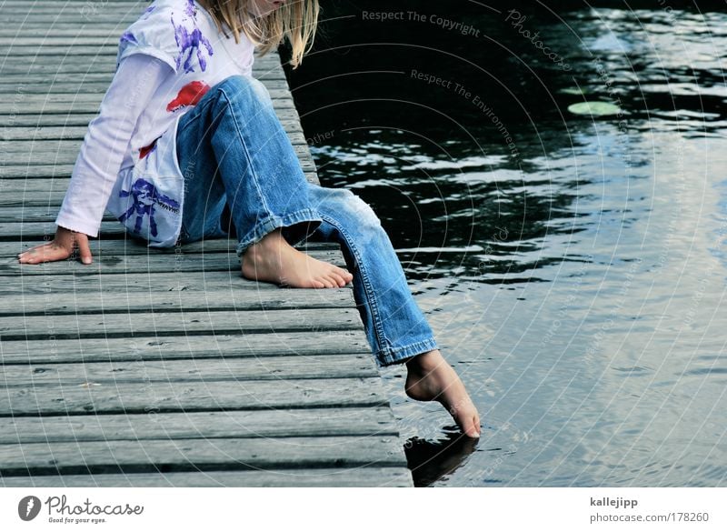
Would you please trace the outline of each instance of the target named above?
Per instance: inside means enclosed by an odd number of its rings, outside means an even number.
[[[727,485],[724,4],[370,4],[324,3],[291,81],[483,417],[385,370],[417,482]]]

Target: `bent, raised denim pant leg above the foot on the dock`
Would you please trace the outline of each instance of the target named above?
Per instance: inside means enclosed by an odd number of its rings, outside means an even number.
[[[253,77],[232,75],[210,88],[179,119],[176,147],[184,175],[182,243],[227,236],[225,211],[238,256],[279,227],[294,244],[320,224],[270,95]]]

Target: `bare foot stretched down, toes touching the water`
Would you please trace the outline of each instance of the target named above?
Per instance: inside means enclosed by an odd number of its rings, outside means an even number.
[[[468,437],[480,437],[480,415],[464,385],[442,353],[435,349],[406,363],[406,395],[417,401],[439,401]]]

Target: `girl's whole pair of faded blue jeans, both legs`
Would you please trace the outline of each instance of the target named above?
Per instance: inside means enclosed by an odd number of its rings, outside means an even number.
[[[180,243],[234,233],[242,256],[277,228],[291,244],[338,243],[378,364],[437,348],[378,217],[351,191],[305,180],[262,83],[233,75],[214,85],[180,118],[176,148],[185,189]]]

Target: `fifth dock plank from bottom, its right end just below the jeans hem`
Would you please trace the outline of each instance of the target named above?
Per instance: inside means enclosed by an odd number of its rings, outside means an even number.
[[[269,356],[265,358],[224,356],[136,362],[0,365],[0,386],[6,388],[52,386],[116,386],[165,382],[206,383],[253,380],[325,379],[376,377],[370,354],[324,356]]]

